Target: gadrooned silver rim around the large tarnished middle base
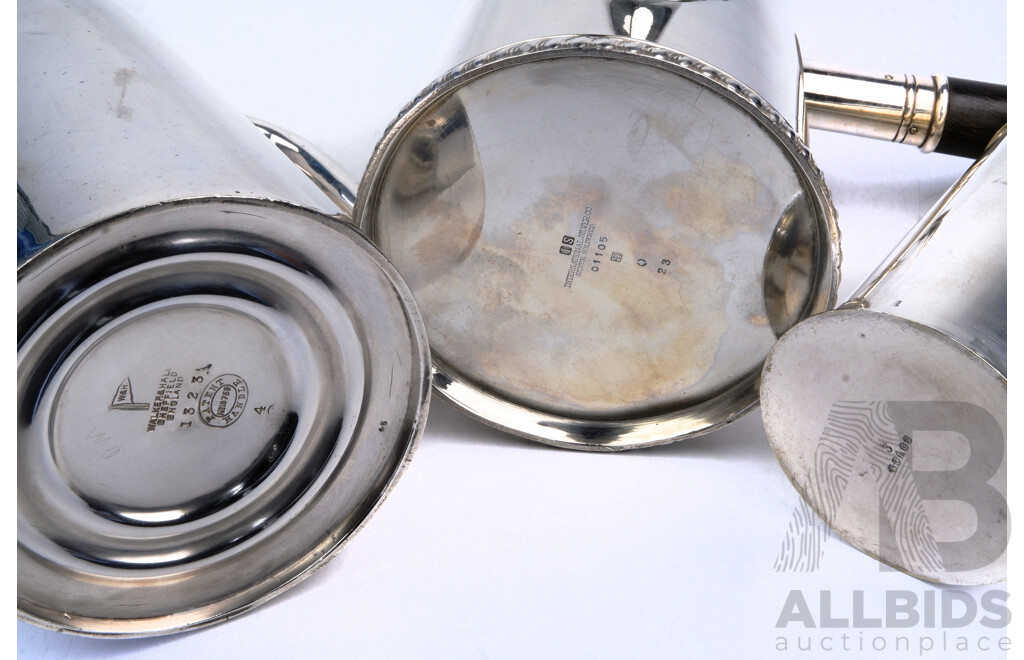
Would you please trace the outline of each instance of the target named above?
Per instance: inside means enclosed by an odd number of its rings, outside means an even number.
[[[375,226],[371,224],[371,216],[377,205],[378,187],[382,174],[387,171],[395,149],[415,126],[417,120],[439,99],[460,87],[501,69],[542,59],[586,56],[615,58],[652,65],[712,87],[720,95],[745,109],[775,138],[776,143],[791,159],[806,189],[814,196],[816,206],[821,212],[820,215],[823,216],[824,226],[818,227],[821,232],[819,243],[827,244],[827,246],[819,245],[819,254],[827,255],[830,261],[827,277],[828,287],[827,290],[819,288],[816,296],[812,298],[811,303],[809,303],[810,313],[831,309],[836,304],[840,282],[841,235],[831,193],[825,185],[824,176],[815,165],[810,150],[768,101],[739,81],[700,59],[658,44],[636,39],[595,35],[546,37],[492,50],[450,70],[413,98],[398,113],[385,130],[383,137],[378,141],[356,194],[355,224],[371,238],[376,238],[376,230]],[[754,373],[737,381],[733,388],[726,390],[726,392],[741,393],[741,396],[737,397],[739,403],[732,405],[731,411],[724,415],[724,419],[715,422],[690,425],[691,428],[678,432],[678,427],[675,431],[663,428],[677,419],[678,415],[675,413],[613,423],[595,423],[587,420],[583,424],[589,425],[590,430],[581,434],[558,430],[571,428],[573,425],[579,426],[581,424],[579,420],[567,420],[549,413],[541,413],[519,404],[499,399],[474,386],[455,380],[450,376],[451,371],[438,362],[434,363],[433,368],[436,392],[484,424],[545,444],[589,450],[621,450],[653,446],[710,433],[733,422],[757,405],[761,378],[760,368],[758,368]],[[470,397],[474,399],[474,402],[465,400],[467,393],[471,393]],[[708,404],[718,401],[721,396],[722,394],[717,395],[698,406],[694,406],[694,409],[705,408]],[[489,411],[480,409],[480,404],[489,407],[490,404],[496,403],[503,408],[503,413],[500,415],[494,415]],[[524,422],[526,423],[524,424]],[[632,430],[616,433],[616,439],[612,442],[600,442],[599,438],[606,435],[611,426],[629,427]]]

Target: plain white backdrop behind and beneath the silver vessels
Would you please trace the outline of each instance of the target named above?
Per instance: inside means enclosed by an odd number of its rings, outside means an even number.
[[[443,73],[458,0],[121,0],[241,112],[305,137],[353,175],[395,113]],[[1002,0],[798,0],[805,57],[899,73],[1006,82]],[[969,163],[813,133],[811,149],[843,231],[845,299]],[[653,449],[552,449],[469,421],[435,398],[414,460],[379,513],[325,568],[227,623],[164,637],[95,640],[18,623],[24,658],[871,657],[937,653],[946,634],[982,654],[1005,631],[776,628],[800,589],[849,616],[886,592],[949,590],[830,538],[821,567],[778,573],[799,497],[754,411],[728,428]],[[991,587],[989,587],[991,588]],[[980,599],[989,588],[963,589]],[[994,588],[1006,589],[996,585]],[[941,597],[938,597],[941,598]],[[1011,601],[1013,607],[1013,601]],[[808,634],[835,650],[797,650]],[[840,635],[848,640],[842,641]],[[909,651],[894,651],[897,634]],[[798,636],[801,641],[798,641]],[[779,639],[788,651],[776,650]],[[1017,642],[1015,640],[1015,642]],[[1019,641],[1024,643],[1024,640]],[[844,644],[851,651],[843,650]]]

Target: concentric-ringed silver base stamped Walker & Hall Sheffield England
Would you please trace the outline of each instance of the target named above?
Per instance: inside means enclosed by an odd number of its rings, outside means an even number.
[[[354,229],[255,202],[61,247],[18,271],[20,616],[170,632],[322,565],[422,431],[426,340],[396,271]]]

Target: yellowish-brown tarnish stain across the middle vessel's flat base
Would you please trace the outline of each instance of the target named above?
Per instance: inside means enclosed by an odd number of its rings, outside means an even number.
[[[721,300],[731,284],[722,265],[684,239],[691,229],[681,223],[616,208],[598,178],[558,177],[546,188],[519,218],[488,222],[465,259],[419,282],[437,357],[507,397],[556,412],[628,415],[685,398],[714,366],[729,324]],[[570,257],[559,247],[578,233],[586,209],[594,236],[569,289]],[[420,254],[406,245],[393,258],[409,272],[422,265]],[[671,262],[667,273],[657,270],[663,259]]]

